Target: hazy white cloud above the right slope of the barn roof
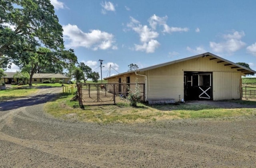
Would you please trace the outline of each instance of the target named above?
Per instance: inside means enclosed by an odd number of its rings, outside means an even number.
[[[222,38],[226,41],[222,41],[220,43],[210,41],[210,47],[216,53],[233,53],[242,49],[246,45],[246,43],[241,41],[241,38],[244,37],[244,35],[244,31],[234,31],[233,34],[227,34],[222,36]]]

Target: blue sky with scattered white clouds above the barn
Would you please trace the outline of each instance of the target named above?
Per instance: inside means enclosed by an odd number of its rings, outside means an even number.
[[[211,52],[256,70],[255,0],[51,0],[66,49],[102,77]],[[111,64],[112,68],[109,68]],[[110,72],[109,72],[110,69]],[[110,73],[110,74],[109,74]]]

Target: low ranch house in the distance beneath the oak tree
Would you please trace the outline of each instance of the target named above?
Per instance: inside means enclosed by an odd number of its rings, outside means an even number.
[[[6,84],[16,84],[19,82],[18,78],[14,78],[14,74],[16,72],[5,72],[6,76],[2,78],[2,82]],[[51,78],[55,78],[55,82],[59,83],[60,80],[63,80],[63,83],[67,84],[70,82],[70,78],[68,76],[64,76],[62,74],[34,74],[32,77],[32,83],[43,83],[44,80],[51,80]]]

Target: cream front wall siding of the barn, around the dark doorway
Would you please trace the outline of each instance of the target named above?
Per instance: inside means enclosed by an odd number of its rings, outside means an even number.
[[[170,98],[178,102],[184,98],[184,71],[214,72],[212,76],[214,100],[240,98],[241,73],[224,64],[199,57],[142,72],[141,74],[148,76],[148,99]]]

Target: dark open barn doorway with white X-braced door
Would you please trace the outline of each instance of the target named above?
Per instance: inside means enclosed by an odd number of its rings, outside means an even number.
[[[212,72],[184,72],[184,99],[212,100]]]

